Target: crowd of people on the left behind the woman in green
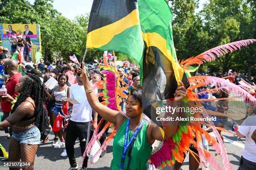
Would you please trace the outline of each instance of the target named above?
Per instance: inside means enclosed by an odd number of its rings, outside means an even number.
[[[102,111],[97,110],[97,108],[92,109],[90,106],[90,100],[88,101],[86,91],[83,90],[82,78],[77,74],[79,66],[70,61],[57,61],[56,64],[51,64],[48,61],[44,62],[43,59],[39,63],[33,63],[33,67],[31,65],[25,67],[24,65],[18,65],[16,60],[11,59],[2,61],[4,73],[8,75],[5,76],[4,82],[8,94],[1,96],[3,118],[0,129],[9,133],[8,137],[11,138],[8,160],[18,161],[21,159],[31,163],[34,162],[38,145],[49,141],[47,132],[45,132],[48,128],[47,119],[46,125],[43,125],[43,127],[39,125],[44,112],[47,112],[49,126],[54,131],[55,136],[52,143],[53,147],[65,148],[61,156],[69,157],[71,170],[78,169],[74,157],[75,140],[79,138],[81,153],[83,154],[92,135],[91,130],[94,130],[101,118],[104,117],[101,114]],[[120,79],[124,82],[121,82],[122,87],[130,86],[130,90],[139,87],[140,77],[137,69],[120,67],[118,72]],[[51,77],[58,81],[53,89],[44,85]],[[91,85],[104,79],[104,75],[100,73],[99,69],[88,70],[88,77],[90,77]],[[102,89],[96,89],[94,92],[97,94],[102,92]],[[136,100],[141,100],[141,89],[137,93],[139,93],[137,97],[140,98]],[[73,105],[67,102],[65,99],[69,97],[75,98],[80,104]],[[125,103],[128,99],[122,98],[121,100],[120,106],[125,112]],[[102,97],[97,97],[97,101],[102,102]],[[105,119],[108,120],[108,118]],[[103,121],[100,130],[107,123],[106,120]],[[56,125],[58,123],[62,125]],[[136,122],[131,121],[131,124],[133,123]],[[10,126],[12,128],[8,128]],[[101,144],[104,142],[107,133],[108,130],[103,133],[100,139]],[[20,148],[20,150],[17,150],[17,148]],[[101,156],[104,155],[105,151]],[[88,158],[86,157],[82,167],[83,170],[87,168],[87,161]]]

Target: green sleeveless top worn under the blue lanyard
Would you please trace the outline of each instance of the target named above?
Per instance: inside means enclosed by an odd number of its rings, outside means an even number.
[[[113,160],[111,161],[110,170],[120,170],[127,120],[128,119],[123,121],[123,123],[121,124],[120,128],[118,129],[114,137]],[[152,147],[148,143],[148,125],[149,125],[148,121],[145,120],[145,124],[141,128],[133,144],[129,170],[147,170],[148,169],[146,166],[146,163],[148,162],[152,152]],[[133,135],[133,132],[129,129],[128,141],[130,141],[132,135]],[[129,159],[128,150],[125,153],[125,161],[123,166],[124,170],[126,170],[127,164],[128,164],[128,159]]]

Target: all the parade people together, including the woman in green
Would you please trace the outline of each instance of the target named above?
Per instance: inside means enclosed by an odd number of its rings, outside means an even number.
[[[29,46],[29,40],[25,42],[22,37],[19,38],[18,41],[20,41],[21,46],[26,47],[25,43]],[[19,46],[19,43],[17,45]],[[95,94],[102,92],[103,89],[92,89],[93,84],[105,78],[100,72],[104,70],[104,67],[100,67],[100,65],[103,64],[102,60],[98,61],[97,67],[94,69],[88,69],[85,65],[76,65],[71,61],[65,62],[58,60],[56,63],[50,63],[49,61],[44,62],[43,58],[40,59],[39,63],[33,63],[33,67],[31,65],[24,66],[18,64],[16,60],[6,58],[1,58],[1,60],[4,73],[8,75],[5,76],[4,82],[8,94],[0,98],[1,110],[3,112],[0,130],[5,130],[5,133],[9,133],[9,138],[11,138],[8,161],[22,160],[31,162],[32,166],[30,168],[33,169],[38,145],[53,140],[53,148],[63,148],[64,150],[61,156],[68,156],[70,163],[69,170],[78,170],[79,166],[77,165],[74,155],[75,141],[79,138],[80,150],[83,155],[92,137],[93,130],[97,128],[97,125],[103,118],[99,132],[107,122],[113,123],[118,129],[113,141],[111,169],[120,169],[120,166],[121,169],[122,167],[125,167],[125,169],[127,167],[131,169],[138,169],[138,167],[147,169],[146,163],[151,155],[151,145],[155,140],[161,141],[172,137],[176,131],[175,128],[166,128],[164,129],[166,133],[164,133],[165,135],[163,136],[157,125],[151,124],[151,122],[143,119],[142,89],[138,67],[132,68],[126,65],[118,68],[121,80],[120,86],[128,86],[127,94],[129,94],[128,98],[120,98],[122,112],[118,112],[100,104],[104,102],[104,100],[102,96],[96,96]],[[113,62],[109,60],[109,64],[113,65]],[[231,73],[228,73],[228,75],[229,74]],[[230,80],[230,82],[236,83],[240,81],[238,80],[238,77],[240,77],[239,74],[232,74],[235,75],[233,77],[235,81]],[[226,76],[225,74],[217,75],[215,73],[212,75],[219,77]],[[44,84],[50,79],[54,79],[58,82],[56,86],[51,89]],[[174,101],[182,100],[187,94],[183,83],[180,82],[180,84],[174,94]],[[198,89],[198,92],[213,88],[214,87],[204,86]],[[227,98],[228,94],[228,90],[224,89],[223,91],[217,91],[215,93],[207,91],[206,93],[201,93],[198,97],[205,99],[212,97]],[[79,104],[68,102],[68,98],[76,99]],[[215,111],[225,113],[228,110],[228,100],[218,100],[215,103],[205,102],[204,107],[214,107],[213,110],[215,109]],[[222,117],[218,118],[218,121],[214,123],[217,127],[223,128],[226,119],[223,120]],[[41,124],[42,120],[45,122],[44,125]],[[49,139],[48,137],[51,129],[54,132],[54,139]],[[210,132],[211,128],[207,128],[206,130]],[[256,134],[253,133],[254,130],[250,129],[249,131],[251,136],[246,138],[251,138],[251,141],[255,141]],[[239,137],[248,134],[248,130],[246,131],[244,129],[238,130],[238,132],[240,133],[238,135]],[[221,131],[219,131],[219,133],[221,133]],[[108,129],[105,130],[100,138],[101,145],[107,135]],[[127,140],[127,136],[129,139],[131,138],[131,140],[133,138],[140,140],[133,141],[134,143],[132,144],[127,141],[128,144],[130,143],[133,145],[133,148],[136,149],[133,149],[133,152],[125,153],[123,151],[123,143]],[[255,148],[255,146],[253,146],[253,148]],[[250,165],[250,167],[256,167],[256,160],[254,160],[254,158],[251,159],[250,156],[248,157],[246,153],[251,152],[251,148],[246,149],[247,151],[243,153],[244,161],[253,162],[254,164]],[[127,157],[128,153],[132,155]],[[195,153],[198,152],[195,150]],[[256,156],[256,153],[254,154],[253,156]],[[104,155],[105,151],[103,151],[100,156],[103,157]],[[138,157],[137,155],[144,156]],[[129,158],[131,157],[137,159],[130,160]],[[191,161],[193,160],[191,159]],[[82,163],[82,170],[87,169],[87,162],[88,157],[86,156]],[[194,160],[193,163],[194,164],[191,166],[198,169],[199,163],[197,163],[196,160]],[[181,165],[182,164],[177,162],[174,168],[179,169]]]

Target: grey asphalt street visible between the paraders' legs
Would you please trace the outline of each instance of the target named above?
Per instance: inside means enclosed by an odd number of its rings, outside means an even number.
[[[230,130],[227,126],[226,129]],[[109,133],[110,134],[110,133]],[[212,133],[210,133],[213,135]],[[241,151],[243,150],[245,139],[239,139],[229,133],[223,133],[225,138],[225,146],[228,152],[228,159],[230,160],[231,166],[233,170],[237,170],[239,166],[239,161],[241,158]],[[214,135],[213,135],[214,136]],[[0,143],[3,147],[8,151],[9,141],[10,139],[6,138],[7,134],[4,131],[0,131]],[[36,153],[36,161],[35,161],[35,170],[68,170],[69,169],[69,159],[67,157],[61,157],[60,154],[64,150],[64,148],[55,149],[51,144],[53,143],[54,135],[51,132],[49,135],[49,142],[39,145],[38,151]],[[113,142],[108,145],[107,153],[104,157],[100,158],[97,163],[94,165],[89,165],[89,170],[109,170],[111,160],[113,158],[112,155],[113,150]],[[213,155],[217,155],[214,152],[214,149],[210,146],[210,152]],[[79,141],[77,140],[75,143],[75,155],[77,158],[77,164],[81,166],[81,152],[79,148]],[[181,169],[189,170],[189,156],[185,159]],[[218,157],[220,158],[220,157]],[[89,160],[90,161],[90,160]],[[220,161],[218,160],[220,163]],[[0,167],[0,170],[5,170],[8,168]],[[171,170],[172,168],[167,167],[164,170]],[[212,168],[210,168],[211,170]]]

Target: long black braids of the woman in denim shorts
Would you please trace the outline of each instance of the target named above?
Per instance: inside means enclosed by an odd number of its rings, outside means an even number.
[[[44,101],[46,100],[46,90],[45,85],[37,75],[26,75],[26,80],[23,83],[20,96],[17,102],[15,102],[11,113],[13,113],[16,108],[28,97],[31,97],[35,102],[34,123],[35,125],[39,125],[40,117],[43,114]]]

